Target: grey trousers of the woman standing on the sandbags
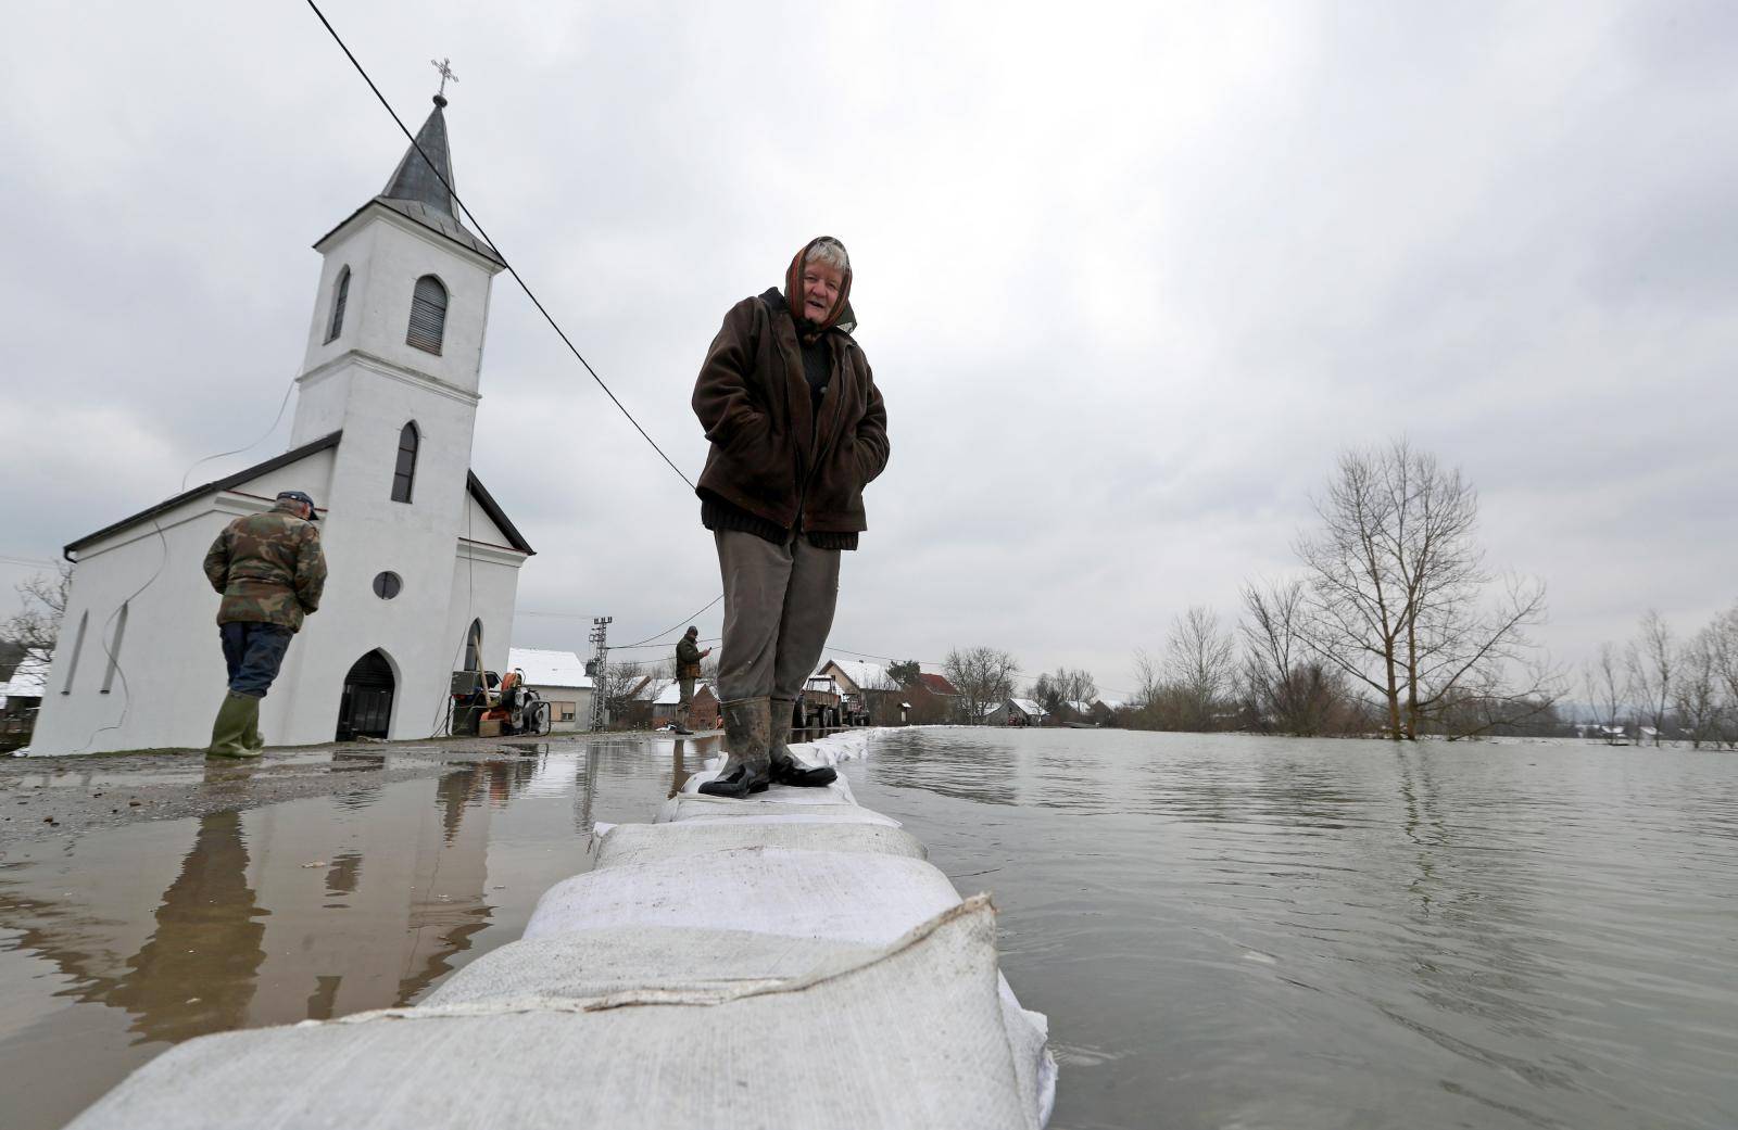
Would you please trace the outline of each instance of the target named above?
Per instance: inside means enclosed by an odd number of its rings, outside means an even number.
[[[833,630],[839,550],[805,538],[773,545],[737,529],[718,529],[713,540],[725,580],[718,698],[799,698]]]

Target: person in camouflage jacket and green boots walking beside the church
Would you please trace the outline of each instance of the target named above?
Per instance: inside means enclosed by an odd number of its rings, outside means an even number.
[[[271,689],[302,618],[320,609],[325,550],[315,500],[282,491],[264,514],[229,522],[205,554],[205,578],[219,594],[217,632],[229,693],[212,726],[210,757],[259,757],[259,700]]]

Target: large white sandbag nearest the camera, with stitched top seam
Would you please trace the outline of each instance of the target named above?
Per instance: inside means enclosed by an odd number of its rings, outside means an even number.
[[[474,1000],[203,1036],[71,1128],[1038,1125],[978,897],[772,986]]]

